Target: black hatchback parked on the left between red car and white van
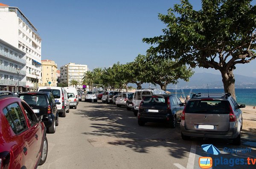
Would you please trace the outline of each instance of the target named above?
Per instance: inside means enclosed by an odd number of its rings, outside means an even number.
[[[31,107],[37,117],[48,118],[52,126],[47,128],[48,133],[55,133],[59,124],[59,117],[55,99],[50,92],[23,92],[18,95]],[[58,102],[59,103],[59,102]]]

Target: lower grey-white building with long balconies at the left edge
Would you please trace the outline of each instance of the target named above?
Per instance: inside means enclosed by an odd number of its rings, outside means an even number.
[[[26,90],[26,53],[0,39],[0,90]]]

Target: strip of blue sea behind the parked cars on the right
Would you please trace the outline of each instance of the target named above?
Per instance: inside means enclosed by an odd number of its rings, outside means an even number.
[[[192,97],[195,93],[208,93],[208,89],[167,89],[167,91],[175,94],[177,97]],[[238,104],[247,106],[256,106],[256,89],[235,89],[236,101]],[[224,89],[209,89],[209,93],[224,93]]]

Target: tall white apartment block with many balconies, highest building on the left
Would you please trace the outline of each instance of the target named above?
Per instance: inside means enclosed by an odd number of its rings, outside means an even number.
[[[35,90],[41,79],[41,37],[17,7],[0,3],[0,38],[26,53],[26,88]]]

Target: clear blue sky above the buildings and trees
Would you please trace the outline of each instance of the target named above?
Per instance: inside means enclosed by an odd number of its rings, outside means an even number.
[[[18,7],[38,29],[42,60],[54,60],[58,68],[67,63],[86,64],[90,70],[127,63],[145,54],[143,37],[163,34],[158,13],[179,0],[0,0]],[[191,0],[195,10],[201,0]],[[252,1],[256,4],[256,0]],[[195,73],[220,74],[196,68]],[[256,60],[236,65],[234,74],[256,77]]]

